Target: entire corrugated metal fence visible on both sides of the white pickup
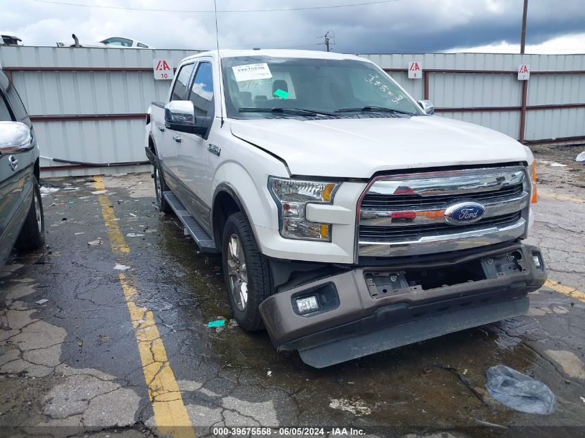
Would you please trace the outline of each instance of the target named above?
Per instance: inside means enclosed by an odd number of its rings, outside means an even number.
[[[154,80],[154,59],[179,61],[198,51],[0,46],[35,123],[42,156],[89,163],[145,159],[145,110],[165,100],[170,81]],[[478,123],[524,143],[585,142],[585,55],[485,53],[360,55],[376,62],[440,116]],[[408,79],[408,62],[421,79]],[[517,80],[522,63],[530,80]],[[44,175],[135,172],[142,166],[93,167],[43,159]],[[48,167],[51,170],[48,171]]]

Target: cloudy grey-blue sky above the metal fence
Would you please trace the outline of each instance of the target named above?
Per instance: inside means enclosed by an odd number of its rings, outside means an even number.
[[[530,0],[527,53],[585,53],[584,2]],[[352,3],[369,4],[348,6]],[[321,36],[330,30],[334,51],[345,53],[514,53],[522,3],[217,0],[219,44],[322,50]],[[206,12],[213,10],[213,0],[0,0],[0,10],[0,33],[26,45],[54,46],[75,33],[82,43],[127,36],[156,48],[215,48],[215,19]]]

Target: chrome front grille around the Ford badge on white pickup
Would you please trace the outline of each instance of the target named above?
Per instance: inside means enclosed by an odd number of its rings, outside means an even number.
[[[516,239],[525,232],[530,190],[524,167],[378,177],[359,201],[357,253],[417,255]],[[481,218],[454,223],[453,209],[471,203],[483,208]]]

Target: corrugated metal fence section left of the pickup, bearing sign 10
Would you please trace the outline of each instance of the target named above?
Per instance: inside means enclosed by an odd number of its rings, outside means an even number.
[[[26,105],[41,155],[84,163],[145,161],[145,111],[165,100],[155,59],[176,67],[198,51],[0,46],[0,65]],[[44,176],[140,172],[147,165],[87,167],[42,158]],[[51,167],[49,170],[48,167]]]

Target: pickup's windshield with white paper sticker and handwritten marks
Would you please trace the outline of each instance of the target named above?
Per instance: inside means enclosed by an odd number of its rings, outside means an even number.
[[[222,68],[231,118],[351,116],[365,111],[424,114],[369,62],[250,56],[223,58]]]

